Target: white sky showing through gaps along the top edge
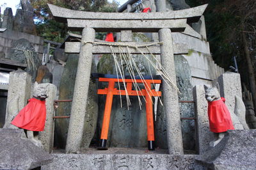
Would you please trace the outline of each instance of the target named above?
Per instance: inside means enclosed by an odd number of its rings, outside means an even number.
[[[113,0],[108,0],[112,2]],[[127,0],[116,0],[120,5],[124,4]],[[20,0],[0,0],[1,13],[4,13],[6,7],[12,8],[12,13],[15,15],[16,6],[19,6]]]

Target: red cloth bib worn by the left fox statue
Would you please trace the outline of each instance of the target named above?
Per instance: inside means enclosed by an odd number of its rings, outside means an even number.
[[[13,119],[12,125],[31,131],[44,131],[46,118],[45,100],[31,98],[28,101],[28,104]]]

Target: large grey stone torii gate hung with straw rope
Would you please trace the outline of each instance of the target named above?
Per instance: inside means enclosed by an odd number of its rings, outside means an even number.
[[[187,23],[197,22],[207,6],[205,4],[186,10],[159,13],[95,13],[68,10],[52,4],[48,5],[56,20],[67,22],[69,29],[72,31],[83,31],[82,42],[94,42],[96,31],[121,32],[122,44],[140,45],[131,42],[132,32],[158,33],[159,41],[163,42],[163,44],[148,48],[152,54],[161,55],[162,66],[173,82],[176,82],[173,55],[186,54],[188,49],[184,45],[173,45],[172,32],[182,32],[186,28]],[[116,47],[113,48],[115,49]],[[147,48],[140,50],[144,54],[148,54]],[[111,49],[106,47],[106,45],[67,42],[65,43],[65,52],[79,53],[66,146],[66,153],[74,153],[81,148],[92,55],[111,54]],[[138,54],[134,49],[131,49],[129,52],[131,54]],[[177,91],[165,82],[163,82],[163,104],[167,119],[169,153],[182,155],[183,146],[178,95]]]

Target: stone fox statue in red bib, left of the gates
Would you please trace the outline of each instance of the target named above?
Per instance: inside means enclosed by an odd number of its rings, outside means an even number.
[[[28,138],[40,146],[40,141],[36,140],[33,131],[44,131],[46,109],[45,98],[47,98],[47,91],[44,85],[35,82],[33,98],[29,99],[26,105],[11,122],[19,128],[27,130]]]

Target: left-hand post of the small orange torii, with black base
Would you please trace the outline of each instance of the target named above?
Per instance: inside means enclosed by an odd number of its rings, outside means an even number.
[[[113,90],[115,87],[115,81],[108,82],[108,93],[106,97],[106,104],[101,128],[101,135],[100,135],[100,148],[101,150],[107,150],[107,139],[108,139],[108,129],[109,129],[109,121],[111,115],[111,108],[113,102]]]

